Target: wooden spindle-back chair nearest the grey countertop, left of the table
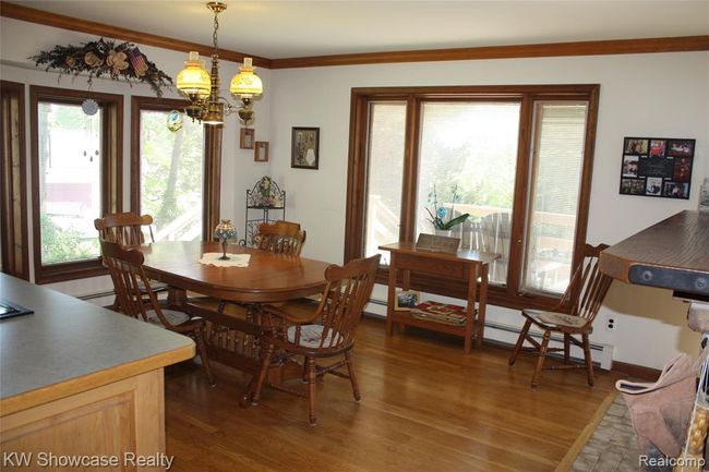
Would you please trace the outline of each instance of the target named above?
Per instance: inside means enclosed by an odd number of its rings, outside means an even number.
[[[207,347],[204,342],[204,319],[160,306],[143,269],[144,257],[140,250],[123,247],[118,243],[104,240],[100,240],[100,245],[104,264],[113,280],[119,300],[118,310],[128,316],[194,339],[204,373],[209,385],[214,386]]]

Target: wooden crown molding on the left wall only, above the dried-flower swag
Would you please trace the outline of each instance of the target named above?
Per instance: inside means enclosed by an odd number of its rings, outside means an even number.
[[[197,51],[203,56],[212,56],[212,46],[200,45],[196,43],[182,41],[167,36],[152,35],[133,29],[121,28],[118,26],[107,25],[105,23],[91,22],[73,16],[49,13],[37,9],[20,5],[11,2],[0,2],[0,16],[22,20],[24,22],[37,23],[40,25],[52,26],[56,28],[70,29],[73,32],[88,33],[109,38],[121,39],[124,41],[139,43],[146,46],[170,49],[173,51],[187,52]],[[219,49],[219,59],[233,62],[242,62],[244,57],[253,58],[254,65],[260,68],[269,68],[271,61],[266,58],[249,56],[244,52]]]

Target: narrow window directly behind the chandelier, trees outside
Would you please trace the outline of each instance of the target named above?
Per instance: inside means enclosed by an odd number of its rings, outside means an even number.
[[[133,156],[132,208],[153,216],[156,241],[201,240],[204,126],[184,117],[180,130],[168,130],[170,112],[184,106],[179,100],[141,97],[133,104],[140,147]]]

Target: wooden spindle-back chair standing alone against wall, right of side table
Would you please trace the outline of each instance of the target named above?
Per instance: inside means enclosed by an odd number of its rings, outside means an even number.
[[[536,388],[539,376],[544,366],[544,359],[549,352],[564,352],[564,363],[553,365],[548,368],[586,368],[588,374],[588,385],[593,386],[593,364],[591,359],[591,348],[589,335],[593,330],[593,319],[598,314],[601,303],[611,287],[613,279],[602,274],[598,268],[598,256],[601,251],[606,249],[606,244],[591,246],[585,245],[584,261],[576,268],[564,296],[561,302],[550,312],[539,310],[522,310],[522,316],[526,318],[525,326],[519,334],[519,339],[515,349],[509,356],[509,365],[514,365],[517,354],[521,350],[531,350],[538,353],[537,367],[532,376],[531,386]],[[557,312],[562,306],[570,303],[568,314]],[[544,331],[542,341],[539,342],[531,337],[529,328],[534,325]],[[564,336],[563,348],[550,348],[549,341],[552,332],[558,332]],[[576,336],[580,335],[580,340]],[[532,348],[522,348],[525,340],[532,344]],[[584,364],[572,364],[569,362],[570,344],[574,343],[584,350]]]

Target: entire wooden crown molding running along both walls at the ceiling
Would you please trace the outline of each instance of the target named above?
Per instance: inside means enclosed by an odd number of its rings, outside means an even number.
[[[212,55],[212,47],[152,35],[104,23],[0,2],[0,16],[38,23],[63,29],[107,36],[176,51],[197,51]],[[544,58],[562,56],[608,56],[654,52],[709,50],[709,35],[666,38],[611,39],[599,41],[551,43],[538,45],[485,46],[477,48],[426,49],[413,51],[362,52],[351,55],[313,56],[304,58],[267,59],[253,57],[254,64],[265,69],[320,68],[334,65],[384,64],[396,62],[437,62],[483,59]],[[219,58],[241,62],[249,55],[219,49]]]

